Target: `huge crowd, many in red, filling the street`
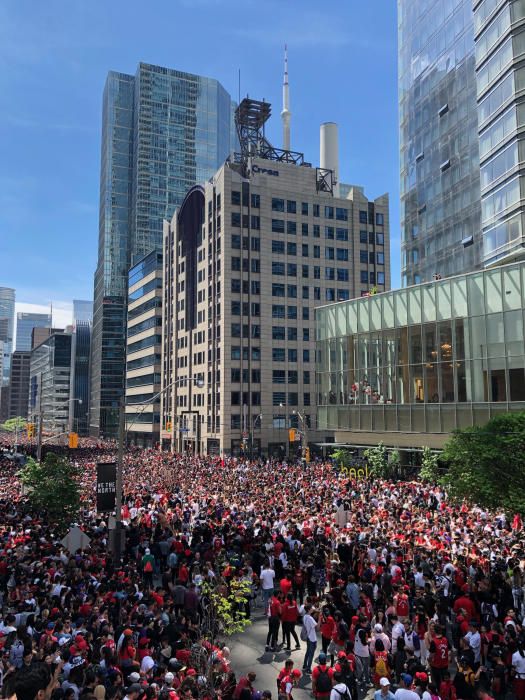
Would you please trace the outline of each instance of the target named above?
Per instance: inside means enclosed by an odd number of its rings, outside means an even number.
[[[525,700],[519,514],[350,479],[330,461],[131,449],[114,561],[95,506],[96,464],[114,458],[96,441],[73,457],[90,538],[76,552],[0,458],[3,697],[291,700],[300,687],[318,700]],[[233,614],[267,624],[261,654],[287,659],[274,688],[257,687],[257,668],[235,674],[210,612],[211,592],[234,589]]]

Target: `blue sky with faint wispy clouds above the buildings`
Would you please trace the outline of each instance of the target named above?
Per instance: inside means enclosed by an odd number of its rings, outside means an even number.
[[[286,42],[292,148],[319,159],[339,123],[340,172],[390,193],[399,284],[395,0],[3,0],[0,3],[0,285],[17,301],[89,299],[98,245],[101,95],[139,61],[217,78],[272,102],[280,145]],[[27,307],[24,307],[27,308]]]

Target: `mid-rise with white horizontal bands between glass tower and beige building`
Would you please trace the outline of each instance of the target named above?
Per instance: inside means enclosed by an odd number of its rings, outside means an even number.
[[[126,431],[141,447],[159,442],[161,325],[162,252],[153,251],[129,271]]]

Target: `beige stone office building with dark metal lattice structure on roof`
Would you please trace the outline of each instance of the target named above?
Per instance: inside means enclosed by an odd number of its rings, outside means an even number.
[[[339,186],[335,125],[315,168],[267,141],[269,116],[242,101],[241,153],[165,223],[161,440],[174,450],[293,453],[289,428],[310,441],[315,307],[390,286],[388,196]]]

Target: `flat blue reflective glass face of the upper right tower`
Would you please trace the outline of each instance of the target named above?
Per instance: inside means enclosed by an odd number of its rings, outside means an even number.
[[[472,0],[398,0],[403,286],[480,267]]]

